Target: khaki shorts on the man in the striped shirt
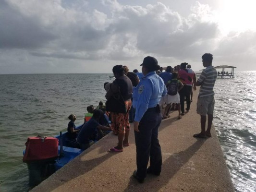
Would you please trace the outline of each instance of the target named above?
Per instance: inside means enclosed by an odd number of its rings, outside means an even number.
[[[214,103],[214,95],[203,97],[198,96],[196,103],[196,113],[204,116],[213,115]]]

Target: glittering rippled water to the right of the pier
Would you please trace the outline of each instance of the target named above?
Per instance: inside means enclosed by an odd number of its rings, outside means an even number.
[[[214,126],[237,192],[256,191],[255,101],[256,72],[217,79]]]

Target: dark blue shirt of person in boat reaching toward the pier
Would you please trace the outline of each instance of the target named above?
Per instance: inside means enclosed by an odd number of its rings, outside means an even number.
[[[77,142],[79,144],[88,144],[91,139],[95,139],[97,136],[97,128],[100,124],[94,118],[91,118],[84,124],[81,131],[78,134]]]

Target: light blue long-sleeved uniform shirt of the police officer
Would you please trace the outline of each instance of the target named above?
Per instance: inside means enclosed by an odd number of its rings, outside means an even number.
[[[133,107],[135,110],[135,121],[140,121],[148,108],[154,108],[162,96],[167,94],[167,88],[156,72],[149,72],[140,83],[134,87]]]

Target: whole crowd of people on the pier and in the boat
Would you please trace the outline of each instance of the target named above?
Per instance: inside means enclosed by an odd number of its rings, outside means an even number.
[[[124,146],[130,145],[130,123],[133,122],[137,163],[134,178],[142,183],[146,174],[159,175],[162,156],[158,127],[162,119],[170,117],[171,109],[178,110],[178,119],[182,119],[185,112],[189,112],[196,86],[201,86],[196,109],[201,116],[201,132],[193,136],[211,137],[213,86],[217,78],[212,60],[213,57],[209,53],[202,56],[203,66],[206,69],[197,81],[191,65],[186,62],[174,68],[167,66],[165,72],[163,72],[164,68],[158,65],[158,60],[151,56],[144,58],[141,64],[142,72],[136,69],[129,72],[127,66],[114,66],[112,72],[115,80],[112,83],[104,83],[107,99],[105,105],[99,102],[96,109],[93,106],[87,107],[85,124],[79,133],[74,125],[75,116],[69,116],[68,134],[71,144],[86,149],[90,146],[91,140],[101,139],[111,130],[117,135],[118,144],[110,148],[109,152],[123,152]],[[111,120],[110,124],[109,120]],[[147,167],[148,162],[150,162],[149,167]]]

